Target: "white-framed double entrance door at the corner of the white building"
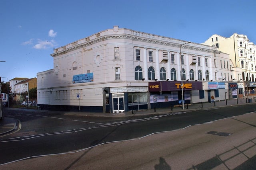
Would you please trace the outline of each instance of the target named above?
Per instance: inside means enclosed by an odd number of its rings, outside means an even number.
[[[116,93],[112,95],[113,113],[124,112],[124,93]]]

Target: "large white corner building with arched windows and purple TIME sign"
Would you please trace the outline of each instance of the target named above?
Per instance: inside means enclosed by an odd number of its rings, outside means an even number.
[[[118,26],[51,56],[54,68],[37,73],[42,109],[120,113],[224,100],[236,97],[240,78],[215,46]]]

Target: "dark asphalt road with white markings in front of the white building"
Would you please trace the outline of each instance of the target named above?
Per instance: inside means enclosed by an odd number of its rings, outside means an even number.
[[[102,143],[123,141],[182,129],[190,125],[254,112],[254,105],[185,111],[136,117],[83,117],[39,113],[5,115],[21,121],[20,131],[0,138],[0,164],[30,156],[80,150]],[[255,124],[244,122],[251,127]],[[255,137],[255,136],[254,136]]]

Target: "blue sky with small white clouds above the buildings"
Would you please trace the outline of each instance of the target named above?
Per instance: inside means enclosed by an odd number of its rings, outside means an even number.
[[[34,78],[53,69],[54,48],[114,25],[194,43],[238,33],[256,44],[255,7],[255,0],[0,0],[0,76]]]

